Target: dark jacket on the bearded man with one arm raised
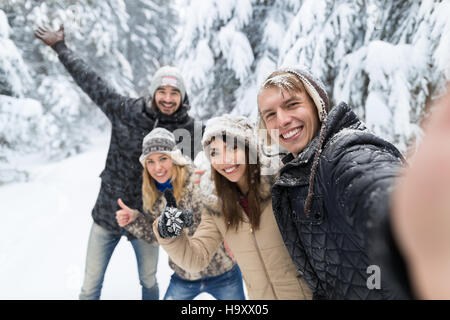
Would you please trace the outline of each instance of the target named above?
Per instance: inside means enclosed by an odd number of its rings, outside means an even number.
[[[187,95],[183,106],[173,115],[154,112],[147,103],[151,101],[151,98],[132,99],[117,94],[83,60],[67,48],[63,41],[56,43],[53,49],[58,53],[59,60],[75,82],[112,124],[109,151],[105,168],[100,175],[102,183],[97,202],[92,210],[92,217],[100,226],[120,234],[122,228],[115,219],[116,211],[119,210],[117,198],[122,198],[129,207],[142,211],[142,166],[139,156],[145,135],[156,126],[171,132],[175,129],[186,129],[191,137],[194,137],[196,130],[196,133],[200,132],[200,135],[198,139],[192,139],[191,153],[188,154],[191,159],[194,159],[195,155],[202,150],[203,127],[200,122],[195,122],[188,115]],[[180,135],[177,143],[181,140]],[[133,238],[130,234],[128,237]]]

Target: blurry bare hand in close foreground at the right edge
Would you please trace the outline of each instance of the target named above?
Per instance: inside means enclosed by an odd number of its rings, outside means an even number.
[[[393,194],[392,225],[420,298],[450,299],[450,87]]]

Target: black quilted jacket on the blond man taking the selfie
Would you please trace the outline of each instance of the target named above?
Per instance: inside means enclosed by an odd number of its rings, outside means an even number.
[[[383,278],[369,289],[374,262],[368,234],[379,205],[388,201],[403,163],[400,152],[373,135],[344,103],[327,120],[309,215],[304,205],[318,137],[285,166],[272,189],[273,210],[284,242],[315,299],[395,299]],[[375,244],[376,245],[376,241]],[[375,262],[376,263],[376,262]]]

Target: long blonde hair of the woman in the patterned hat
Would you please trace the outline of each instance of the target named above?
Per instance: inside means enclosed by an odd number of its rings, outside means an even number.
[[[173,173],[171,178],[171,184],[173,187],[173,194],[177,203],[180,201],[183,195],[184,186],[186,183],[186,166],[179,166],[173,164]],[[153,205],[159,195],[158,189],[156,189],[155,180],[148,173],[147,168],[142,171],[142,207],[145,212],[152,212]]]

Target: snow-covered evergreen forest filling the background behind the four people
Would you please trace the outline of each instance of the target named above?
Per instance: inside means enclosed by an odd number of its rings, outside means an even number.
[[[124,95],[147,94],[158,67],[177,65],[192,113],[204,120],[226,112],[255,119],[263,79],[281,66],[305,66],[333,104],[348,102],[406,151],[422,134],[425,105],[450,79],[449,15],[450,3],[438,0],[4,0],[3,163],[12,159],[6,154],[31,150],[27,135],[59,158],[80,152],[91,129],[108,125],[53,50],[34,38],[38,26],[64,23],[68,45]],[[33,111],[22,112],[27,106]]]

